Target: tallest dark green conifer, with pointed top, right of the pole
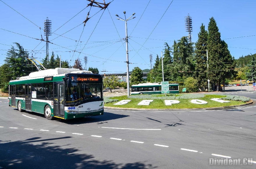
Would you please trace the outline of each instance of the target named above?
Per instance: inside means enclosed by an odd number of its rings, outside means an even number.
[[[221,33],[217,23],[213,17],[210,18],[208,24],[208,62],[209,62],[209,79],[211,83],[216,84],[216,90],[219,91],[219,83],[221,77],[221,70],[223,68]]]

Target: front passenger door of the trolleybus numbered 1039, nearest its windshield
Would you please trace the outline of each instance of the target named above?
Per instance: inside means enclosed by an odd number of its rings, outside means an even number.
[[[64,117],[64,83],[54,83],[54,116]]]

